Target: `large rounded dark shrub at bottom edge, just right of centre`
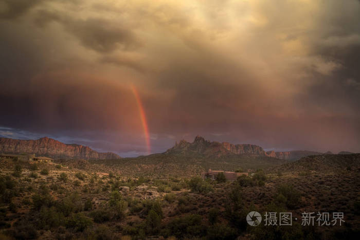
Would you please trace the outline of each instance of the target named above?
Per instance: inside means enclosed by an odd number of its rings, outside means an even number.
[[[166,230],[165,236],[192,238],[206,235],[207,228],[202,224],[200,215],[190,214],[171,220],[166,226]]]

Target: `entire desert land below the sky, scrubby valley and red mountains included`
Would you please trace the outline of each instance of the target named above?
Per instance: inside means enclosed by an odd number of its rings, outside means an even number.
[[[135,158],[49,138],[0,142],[2,239],[350,239],[359,232],[360,154],[265,152],[200,136]],[[16,157],[27,154],[48,159]],[[208,169],[225,174],[204,179]],[[231,172],[239,176],[227,179]],[[292,212],[293,224],[250,226],[250,211]],[[344,223],[304,226],[303,212],[342,212]]]

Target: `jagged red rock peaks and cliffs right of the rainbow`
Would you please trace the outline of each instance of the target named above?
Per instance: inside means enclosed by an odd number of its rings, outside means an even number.
[[[166,151],[167,154],[202,154],[205,156],[227,156],[227,155],[256,155],[275,157],[284,160],[297,160],[301,157],[310,155],[320,155],[318,152],[311,151],[289,151],[289,152],[265,152],[261,146],[253,144],[232,144],[228,142],[210,142],[203,137],[196,136],[193,142],[181,140],[171,149]]]

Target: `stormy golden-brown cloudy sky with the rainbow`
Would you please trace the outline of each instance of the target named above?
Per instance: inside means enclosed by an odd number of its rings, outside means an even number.
[[[359,0],[0,0],[0,136],[360,152],[359,23]]]

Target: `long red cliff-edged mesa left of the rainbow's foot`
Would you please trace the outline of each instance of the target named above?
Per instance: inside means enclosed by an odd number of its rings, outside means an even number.
[[[98,153],[90,147],[78,144],[65,144],[51,138],[38,140],[18,140],[0,138],[0,152],[2,153],[34,153],[37,156],[51,158],[74,158],[74,159],[117,159],[115,153]]]

